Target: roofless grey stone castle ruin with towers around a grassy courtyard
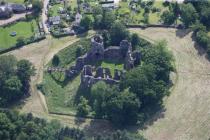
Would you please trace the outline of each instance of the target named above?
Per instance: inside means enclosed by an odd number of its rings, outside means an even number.
[[[91,38],[91,49],[85,55],[78,57],[76,64],[65,70],[69,78],[73,78],[81,71],[81,85],[90,87],[98,81],[104,81],[107,84],[117,84],[125,75],[125,70],[130,70],[140,64],[140,52],[132,52],[131,43],[127,40],[122,40],[119,46],[110,46],[104,49],[103,38],[100,35],[95,35]],[[97,67],[94,63],[104,60],[116,60],[124,62],[125,70],[114,71],[112,77],[109,68]],[[92,65],[91,65],[92,64]],[[51,69],[50,69],[51,70]]]

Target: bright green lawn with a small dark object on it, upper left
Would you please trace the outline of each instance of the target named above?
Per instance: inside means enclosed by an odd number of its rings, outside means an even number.
[[[17,43],[19,37],[30,38],[36,30],[37,24],[35,20],[26,22],[21,21],[6,27],[0,27],[0,50],[7,49],[14,46]],[[11,32],[16,32],[17,35],[12,37]]]

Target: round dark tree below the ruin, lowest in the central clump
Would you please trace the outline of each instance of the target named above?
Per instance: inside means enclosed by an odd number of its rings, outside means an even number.
[[[107,102],[107,115],[117,126],[135,124],[138,120],[140,102],[132,92],[124,90]]]

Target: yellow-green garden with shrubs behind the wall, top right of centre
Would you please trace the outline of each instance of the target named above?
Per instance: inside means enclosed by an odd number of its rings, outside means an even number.
[[[118,18],[126,24],[160,24],[160,16],[168,7],[162,1],[120,1]]]

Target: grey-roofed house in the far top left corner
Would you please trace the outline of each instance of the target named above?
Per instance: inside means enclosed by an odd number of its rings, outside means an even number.
[[[0,18],[10,18],[12,16],[12,8],[10,5],[0,5]]]

